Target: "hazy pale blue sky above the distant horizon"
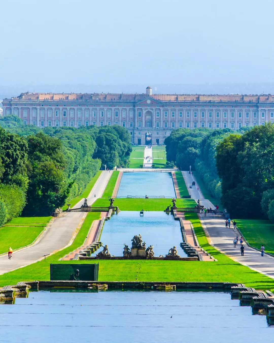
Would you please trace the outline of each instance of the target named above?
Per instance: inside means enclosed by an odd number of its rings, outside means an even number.
[[[273,82],[273,12],[273,0],[2,0],[0,85]]]

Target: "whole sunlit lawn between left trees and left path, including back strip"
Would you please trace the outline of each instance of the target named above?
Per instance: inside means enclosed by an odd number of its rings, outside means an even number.
[[[0,254],[32,244],[51,217],[17,217],[0,228]]]

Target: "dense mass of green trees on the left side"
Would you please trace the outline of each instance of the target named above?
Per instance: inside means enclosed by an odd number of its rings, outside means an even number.
[[[22,211],[49,214],[82,193],[101,166],[126,166],[132,151],[118,125],[40,129],[14,115],[0,125],[1,225]]]

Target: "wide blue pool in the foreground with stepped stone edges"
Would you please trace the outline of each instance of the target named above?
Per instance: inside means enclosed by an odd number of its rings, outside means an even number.
[[[58,289],[58,288],[57,288]],[[0,306],[1,342],[272,342],[265,316],[221,292],[30,292]]]

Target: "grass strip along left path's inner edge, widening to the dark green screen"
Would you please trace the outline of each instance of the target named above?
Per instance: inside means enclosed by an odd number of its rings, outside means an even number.
[[[92,222],[99,218],[100,212],[89,212],[71,246],[47,257],[46,260],[0,275],[0,286],[14,285],[19,281],[50,280],[50,263],[61,262],[58,261],[60,258],[80,247],[84,243]],[[67,262],[72,263],[72,261]],[[75,262],[78,263],[80,261]]]

